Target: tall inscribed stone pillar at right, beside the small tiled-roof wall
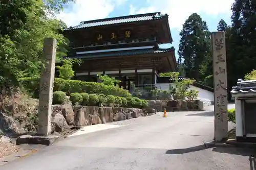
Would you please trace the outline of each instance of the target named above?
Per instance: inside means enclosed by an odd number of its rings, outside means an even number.
[[[211,41],[214,67],[215,141],[222,141],[228,137],[225,33],[213,32]]]

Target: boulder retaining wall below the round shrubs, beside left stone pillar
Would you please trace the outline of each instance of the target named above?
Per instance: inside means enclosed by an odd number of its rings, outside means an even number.
[[[112,108],[97,106],[52,106],[52,130],[61,132],[69,126],[82,127],[156,114],[155,109]]]

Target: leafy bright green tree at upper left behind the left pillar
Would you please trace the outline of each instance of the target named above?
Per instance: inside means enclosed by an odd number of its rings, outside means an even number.
[[[59,11],[61,3],[71,1],[44,2],[23,0],[0,3],[1,88],[18,86],[17,80],[21,77],[40,75],[42,47],[46,37],[57,39],[57,62],[67,53],[68,40],[59,33],[63,23],[49,18],[45,11]]]

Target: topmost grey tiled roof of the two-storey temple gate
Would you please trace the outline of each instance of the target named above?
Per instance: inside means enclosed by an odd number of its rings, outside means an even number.
[[[90,20],[90,21],[82,21],[79,23],[78,26],[70,27],[65,30],[73,30],[79,28],[88,28],[88,27],[96,27],[96,26],[103,26],[103,25],[112,25],[115,23],[123,23],[123,22],[135,22],[135,21],[142,21],[142,20],[156,20],[164,17],[166,15],[161,15],[160,12],[154,13],[147,13],[147,14],[139,14],[139,15],[128,15],[128,16],[120,16],[114,18],[105,18],[105,19],[97,19],[97,20]]]

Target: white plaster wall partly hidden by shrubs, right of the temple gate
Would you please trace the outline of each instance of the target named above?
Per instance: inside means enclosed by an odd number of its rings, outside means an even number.
[[[158,83],[156,84],[158,89],[169,90],[169,83]],[[175,84],[172,84],[175,86]],[[190,85],[189,89],[194,89],[198,91],[198,98],[205,101],[214,101],[214,92],[204,90],[195,86]]]

